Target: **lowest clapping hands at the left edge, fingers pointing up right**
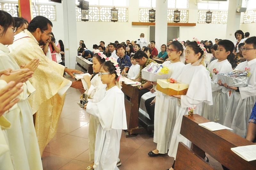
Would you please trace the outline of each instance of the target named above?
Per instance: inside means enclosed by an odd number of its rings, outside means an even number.
[[[20,89],[22,86],[22,83],[16,84],[15,81],[10,81],[4,88],[0,89],[0,116],[20,100],[14,98],[23,91],[23,89]]]

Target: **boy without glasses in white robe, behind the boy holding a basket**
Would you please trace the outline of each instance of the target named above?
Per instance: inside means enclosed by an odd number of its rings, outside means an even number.
[[[221,125],[223,125],[226,116],[229,94],[226,92],[227,88],[219,86],[217,73],[227,73],[233,70],[227,57],[234,56],[232,53],[234,48],[234,43],[229,40],[218,42],[218,48],[215,53],[215,58],[217,59],[213,60],[208,67],[212,78],[213,105],[204,104],[202,115],[204,118],[220,123]],[[223,88],[225,93],[222,92]]]

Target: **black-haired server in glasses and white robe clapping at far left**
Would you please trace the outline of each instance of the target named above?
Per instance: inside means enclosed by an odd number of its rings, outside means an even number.
[[[32,110],[27,98],[35,91],[28,81],[38,66],[39,60],[33,59],[20,69],[15,60],[9,55],[10,50],[5,45],[13,43],[15,28],[12,16],[0,11],[0,70],[11,68],[10,75],[2,75],[1,80],[22,82],[23,92],[19,95],[17,107],[4,114],[12,124],[7,129],[11,155],[14,158],[16,170],[42,170],[42,161],[33,123]]]

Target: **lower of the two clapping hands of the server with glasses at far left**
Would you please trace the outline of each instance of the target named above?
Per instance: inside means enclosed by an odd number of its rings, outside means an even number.
[[[24,83],[26,82],[29,78],[32,77],[32,74],[34,72],[31,72],[28,68],[25,69],[19,69],[19,70],[12,70],[12,69],[7,69],[8,72],[10,73],[9,75],[2,74],[0,76],[0,80],[4,80],[7,83],[10,81],[15,81],[16,83]]]

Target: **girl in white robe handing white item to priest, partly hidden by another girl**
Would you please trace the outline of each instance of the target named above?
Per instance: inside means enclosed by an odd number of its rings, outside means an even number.
[[[105,62],[105,58],[101,58],[98,53],[98,51],[95,51],[93,57],[92,57],[92,69],[94,73],[100,72],[100,66]],[[85,93],[88,95],[88,98],[93,99],[94,94],[103,86],[100,75],[96,74],[92,80],[92,75],[84,75],[84,81],[87,84],[88,89],[85,90]],[[89,144],[89,156],[90,161],[94,160],[94,150],[95,150],[95,139],[96,139],[96,132],[98,129],[98,123],[96,119],[90,115],[90,121],[89,121],[89,135],[88,135],[88,144]],[[86,169],[92,169],[92,166],[94,165],[94,162],[87,166]]]

